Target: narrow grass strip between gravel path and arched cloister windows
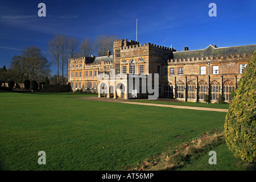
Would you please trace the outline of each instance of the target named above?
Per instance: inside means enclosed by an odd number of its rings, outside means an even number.
[[[161,101],[161,99],[156,100],[133,100],[133,102],[146,102],[152,104],[167,104],[167,105],[177,105],[177,106],[191,106],[191,107],[209,107],[217,109],[229,109],[229,104],[216,104],[216,103],[203,103],[203,102],[174,102],[170,101]]]

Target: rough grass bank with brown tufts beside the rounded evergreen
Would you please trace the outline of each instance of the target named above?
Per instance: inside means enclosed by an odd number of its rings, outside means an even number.
[[[209,151],[217,154],[217,163],[209,164],[211,155]],[[162,154],[150,156],[138,163],[129,166],[126,170],[132,171],[255,171],[256,164],[243,162],[234,158],[224,139],[224,131],[211,131],[200,137],[193,138],[170,148]]]

